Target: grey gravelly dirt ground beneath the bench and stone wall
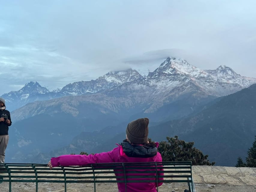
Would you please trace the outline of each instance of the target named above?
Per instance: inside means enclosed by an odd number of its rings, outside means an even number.
[[[35,192],[35,183],[12,183],[12,192]],[[227,184],[195,184],[197,192],[256,192],[256,184],[253,185],[227,185]],[[159,192],[183,192],[188,189],[183,183],[164,183],[158,188]],[[38,192],[64,192],[64,184],[61,183],[39,183]],[[68,192],[93,192],[92,183],[69,183]],[[118,192],[116,183],[96,184],[97,192]],[[9,183],[0,183],[0,192],[9,192]]]

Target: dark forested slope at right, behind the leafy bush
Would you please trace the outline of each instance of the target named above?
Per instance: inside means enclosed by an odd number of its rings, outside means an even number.
[[[209,155],[215,165],[235,166],[238,157],[245,159],[256,133],[256,84],[234,94],[218,98],[199,113],[153,126],[155,140],[178,135]]]

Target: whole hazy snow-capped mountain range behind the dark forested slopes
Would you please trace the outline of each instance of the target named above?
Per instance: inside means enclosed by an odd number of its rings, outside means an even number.
[[[13,158],[9,161],[31,161],[36,155],[42,158],[49,147],[53,149],[52,155],[54,149],[61,149],[58,153],[68,152],[63,147],[72,142],[70,149],[75,151],[74,137],[81,132],[99,133],[103,129],[106,138],[97,141],[98,144],[90,140],[97,136],[86,134],[91,135],[88,140],[91,144],[85,142],[87,146],[100,146],[112,136],[123,134],[131,120],[146,116],[152,126],[185,118],[199,113],[209,102],[217,102],[215,98],[253,83],[256,79],[240,76],[230,67],[200,70],[176,58],[167,58],[146,77],[129,69],[107,73],[96,80],[74,82],[55,92],[30,82],[22,91],[2,95],[9,110],[9,106],[26,104],[11,113],[13,137],[6,156]]]

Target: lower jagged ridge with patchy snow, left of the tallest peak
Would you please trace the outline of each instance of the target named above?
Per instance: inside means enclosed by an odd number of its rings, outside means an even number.
[[[124,82],[140,79],[142,76],[132,69],[124,71],[109,72],[96,80],[80,81],[66,85],[60,90],[49,91],[39,85],[38,82],[29,82],[19,91],[11,91],[3,94],[9,111],[18,109],[34,101],[45,101],[70,95],[83,95],[106,90]]]

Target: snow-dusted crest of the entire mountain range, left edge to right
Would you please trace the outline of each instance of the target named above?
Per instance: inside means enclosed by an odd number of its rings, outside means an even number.
[[[38,82],[29,82],[19,91],[11,91],[3,94],[8,109],[13,111],[34,101],[45,101],[63,96],[74,96],[104,92],[104,94],[118,97],[115,94],[131,94],[125,88],[143,92],[148,89],[151,95],[158,93],[151,101],[154,103],[148,111],[156,106],[170,103],[180,95],[191,93],[201,97],[219,97],[234,93],[256,82],[255,78],[244,77],[235,73],[230,67],[219,66],[216,70],[201,70],[190,65],[183,59],[167,58],[154,72],[143,77],[136,70],[109,72],[96,80],[70,83],[61,90],[49,91]],[[138,85],[138,86],[137,86]],[[140,88],[141,87],[141,88]],[[136,94],[136,93],[135,93]],[[133,97],[135,96],[133,95]],[[163,96],[163,97],[162,97]],[[158,107],[157,107],[158,108]]]

